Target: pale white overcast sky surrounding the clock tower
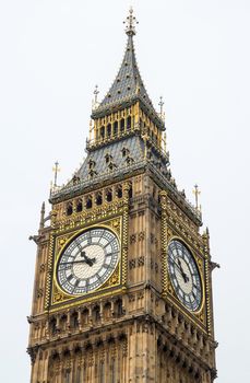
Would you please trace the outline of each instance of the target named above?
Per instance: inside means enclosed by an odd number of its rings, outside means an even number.
[[[92,92],[122,59],[131,1],[0,2],[1,381],[26,383],[25,353],[43,200],[85,155]],[[157,106],[164,96],[171,170],[201,187],[214,271],[219,383],[250,381],[250,2],[132,1],[136,57]],[[48,206],[48,205],[47,205]]]

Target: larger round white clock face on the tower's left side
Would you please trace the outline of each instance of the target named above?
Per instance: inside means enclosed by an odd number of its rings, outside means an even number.
[[[117,236],[107,229],[90,229],[62,252],[57,265],[58,283],[72,295],[94,291],[110,277],[119,258]]]

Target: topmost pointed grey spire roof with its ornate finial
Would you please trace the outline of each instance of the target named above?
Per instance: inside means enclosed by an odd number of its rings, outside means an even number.
[[[100,104],[93,111],[92,116],[98,117],[100,115],[104,115],[107,109],[115,109],[121,104],[130,104],[134,101],[140,100],[146,109],[153,113],[158,121],[163,124],[158,117],[158,114],[153,107],[152,101],[146,92],[139,71],[133,45],[135,23],[136,20],[133,16],[133,10],[130,9],[130,14],[126,21],[126,34],[128,35],[128,42],[123,60],[111,88]]]

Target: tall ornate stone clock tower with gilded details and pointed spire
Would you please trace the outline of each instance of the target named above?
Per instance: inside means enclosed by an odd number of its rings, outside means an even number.
[[[164,115],[143,84],[135,19],[87,156],[43,205],[28,353],[32,383],[211,383],[210,235],[176,185]]]

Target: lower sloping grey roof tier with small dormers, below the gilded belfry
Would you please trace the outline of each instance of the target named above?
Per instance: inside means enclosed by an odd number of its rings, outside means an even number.
[[[140,136],[127,137],[88,152],[74,177],[67,185],[51,193],[50,201],[56,204],[73,198],[86,193],[88,188],[99,188],[108,181],[118,182],[131,176],[134,172],[140,170],[145,172],[145,169],[148,169],[160,183],[160,187],[168,189],[187,213],[195,219],[198,224],[201,224],[200,212],[170,182],[167,165],[154,151],[147,152],[145,158],[145,143]]]

